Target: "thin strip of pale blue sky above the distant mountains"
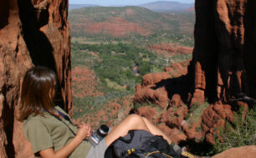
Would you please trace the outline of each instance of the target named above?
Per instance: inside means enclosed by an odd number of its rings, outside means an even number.
[[[97,4],[100,6],[110,5],[137,5],[158,0],[69,0],[69,4]],[[160,0],[159,0],[160,1]],[[195,2],[195,0],[161,0],[171,2]]]

